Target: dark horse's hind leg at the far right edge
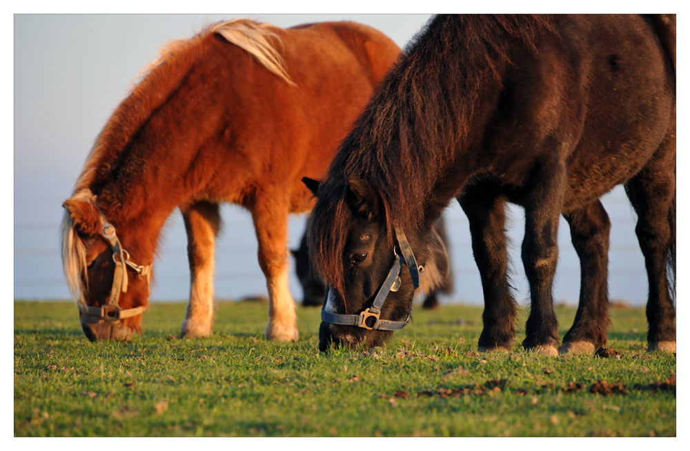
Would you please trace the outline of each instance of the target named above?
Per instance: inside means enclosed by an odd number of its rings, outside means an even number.
[[[669,146],[670,147],[670,146]],[[625,185],[649,280],[648,349],[676,352],[676,154],[655,158]],[[657,157],[657,155],[655,155]]]

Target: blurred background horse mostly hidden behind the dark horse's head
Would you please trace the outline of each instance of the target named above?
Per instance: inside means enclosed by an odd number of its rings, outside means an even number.
[[[425,277],[424,281],[422,281],[422,291],[424,292],[422,307],[428,310],[439,306],[439,293],[451,294],[453,292],[451,255],[449,253],[446,226],[443,219],[437,223],[435,233],[437,234],[438,254],[434,262],[437,263],[437,266],[427,268],[427,270],[431,270],[433,273],[429,273],[429,277]],[[299,248],[290,250],[290,253],[295,257],[295,272],[297,272],[297,279],[299,279],[304,292],[302,305],[322,307],[324,305],[324,297],[326,296],[326,283],[311,270],[306,230],[299,241]]]

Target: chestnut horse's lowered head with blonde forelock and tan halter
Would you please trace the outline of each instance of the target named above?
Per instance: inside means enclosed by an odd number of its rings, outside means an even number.
[[[127,340],[141,332],[150,264],[137,264],[143,258],[137,240],[108,221],[96,200],[90,190],[81,190],[63,203],[63,270],[86,337]]]

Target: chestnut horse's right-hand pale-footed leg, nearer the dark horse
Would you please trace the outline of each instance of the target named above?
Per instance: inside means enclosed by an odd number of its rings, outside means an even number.
[[[283,198],[284,197],[284,198]],[[252,209],[259,241],[259,266],[268,288],[269,340],[297,341],[295,301],[288,290],[288,199],[285,193],[257,197]]]

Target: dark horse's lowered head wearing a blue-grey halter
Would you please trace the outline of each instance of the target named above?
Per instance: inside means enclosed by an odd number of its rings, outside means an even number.
[[[308,232],[311,260],[328,282],[319,350],[382,345],[407,325],[424,267],[435,268],[435,248],[440,246],[435,228],[409,230],[406,236],[391,223],[380,192],[359,179],[348,181],[343,199],[347,214],[335,224],[326,213],[332,200],[327,194],[319,197],[320,183],[303,181],[317,197]],[[341,236],[329,237],[334,230]],[[329,247],[326,241],[343,243],[337,257],[320,254]]]

